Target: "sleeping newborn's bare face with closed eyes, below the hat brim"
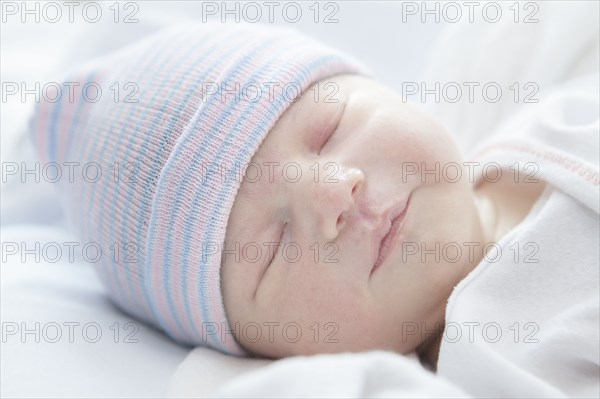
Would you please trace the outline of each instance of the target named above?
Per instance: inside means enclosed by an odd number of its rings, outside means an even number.
[[[432,172],[450,162],[463,161],[448,132],[380,83],[307,90],[252,158],[228,222],[221,283],[240,344],[279,358],[429,338],[481,259],[462,247],[483,242],[467,174]],[[463,256],[436,259],[436,243]]]

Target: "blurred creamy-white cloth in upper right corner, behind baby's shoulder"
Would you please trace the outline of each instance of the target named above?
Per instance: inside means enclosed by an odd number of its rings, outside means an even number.
[[[449,24],[430,53],[422,77],[426,87],[431,89],[438,83],[440,88],[451,88],[456,84],[462,95],[456,102],[452,90],[437,102],[428,95],[424,105],[456,135],[466,152],[515,111],[535,106],[530,101],[542,99],[556,89],[557,83],[598,73],[599,3],[531,3],[518,3],[518,23],[514,22],[515,2],[507,1],[496,2],[502,6],[503,15],[496,23],[486,22],[477,14],[473,23]],[[527,15],[538,22],[523,22]],[[486,84],[487,100],[483,94]],[[472,100],[469,85],[474,87]],[[502,92],[493,102],[496,85]],[[407,98],[421,101],[420,95]]]

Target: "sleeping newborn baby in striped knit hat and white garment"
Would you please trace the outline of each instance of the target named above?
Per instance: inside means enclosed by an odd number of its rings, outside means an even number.
[[[550,98],[467,160],[291,29],[171,28],[64,81],[82,90],[39,104],[38,154],[84,171],[59,191],[110,299],[175,341],[416,352],[449,378],[487,367],[498,393],[597,378],[598,118],[573,114],[597,93]],[[586,350],[552,349],[573,334]]]

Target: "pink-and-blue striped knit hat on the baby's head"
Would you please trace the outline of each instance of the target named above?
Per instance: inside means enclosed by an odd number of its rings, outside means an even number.
[[[202,24],[45,86],[31,136],[62,168],[68,222],[117,306],[180,343],[247,355],[220,288],[240,176],[295,97],[342,73],[368,74],[289,28]]]

